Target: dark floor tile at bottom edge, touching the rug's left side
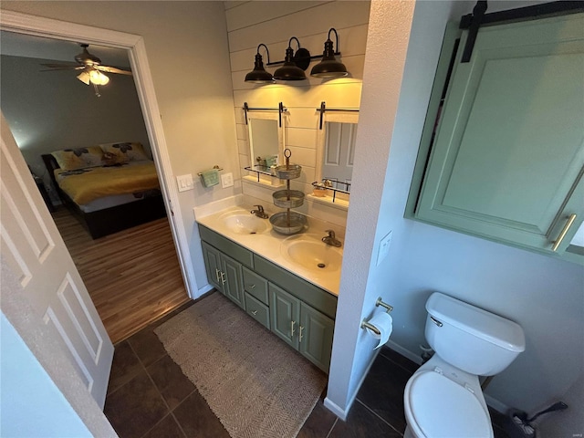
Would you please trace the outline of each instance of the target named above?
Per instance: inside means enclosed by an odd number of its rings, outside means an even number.
[[[172,413],[188,437],[229,438],[229,433],[199,391],[194,391]]]

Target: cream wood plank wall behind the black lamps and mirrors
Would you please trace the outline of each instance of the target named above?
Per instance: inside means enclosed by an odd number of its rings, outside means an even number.
[[[234,88],[235,120],[237,123],[237,147],[240,169],[251,164],[244,102],[250,107],[276,108],[282,102],[288,110],[285,132],[286,147],[292,151],[291,162],[302,165],[302,175],[292,182],[292,188],[312,193],[317,162],[318,111],[321,101],[328,108],[359,108],[360,92],[369,24],[370,2],[367,1],[253,1],[224,2],[231,74]],[[264,43],[272,62],[283,60],[288,40],[297,36],[301,47],[308,48],[310,55],[321,55],[328,29],[339,33],[339,58],[349,70],[348,78],[324,80],[311,78],[288,84],[256,85],[245,82],[245,75],[254,68],[257,46]],[[333,43],[335,43],[334,36]],[[292,43],[294,49],[296,43]],[[266,66],[264,49],[260,51]],[[279,66],[269,67],[274,73]],[[243,193],[263,203],[272,203],[273,188],[242,180]],[[307,198],[305,205],[297,209],[301,213],[318,217],[333,224],[346,225],[347,211],[318,203]]]

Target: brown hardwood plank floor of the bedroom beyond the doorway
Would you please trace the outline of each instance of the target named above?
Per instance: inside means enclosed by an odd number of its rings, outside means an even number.
[[[166,218],[96,240],[66,208],[53,219],[114,344],[190,300]]]

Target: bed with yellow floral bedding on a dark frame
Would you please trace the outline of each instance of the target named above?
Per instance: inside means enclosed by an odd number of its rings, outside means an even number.
[[[158,175],[140,143],[41,155],[61,202],[93,239],[166,216]]]

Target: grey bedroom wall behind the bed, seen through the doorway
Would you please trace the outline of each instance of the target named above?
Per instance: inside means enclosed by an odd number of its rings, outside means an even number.
[[[78,72],[41,72],[47,62],[56,61],[3,55],[0,64],[2,112],[26,163],[47,187],[43,153],[113,141],[140,141],[151,153],[131,77],[110,75],[98,98],[77,80]]]

